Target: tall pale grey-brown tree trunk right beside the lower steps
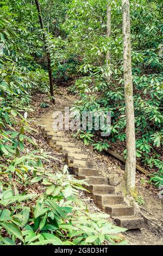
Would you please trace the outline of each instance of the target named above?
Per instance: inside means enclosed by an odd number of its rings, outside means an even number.
[[[123,68],[124,68],[124,95],[126,102],[126,141],[127,160],[124,173],[125,189],[128,194],[135,191],[136,149],[135,149],[135,118],[133,101],[133,77],[131,70],[130,46],[130,3],[122,0],[123,19]]]

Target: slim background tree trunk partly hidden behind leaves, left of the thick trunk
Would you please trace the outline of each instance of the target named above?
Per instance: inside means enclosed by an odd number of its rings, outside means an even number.
[[[107,4],[107,13],[106,13],[106,38],[110,38],[111,36],[111,3],[110,0]],[[106,65],[108,66],[108,70],[110,70],[110,63],[111,63],[111,54],[110,51],[106,52]],[[110,76],[108,77],[108,80]]]

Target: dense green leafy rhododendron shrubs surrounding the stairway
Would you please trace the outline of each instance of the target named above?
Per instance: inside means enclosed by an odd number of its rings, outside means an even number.
[[[162,1],[130,2],[136,156],[160,186]],[[48,48],[54,89],[68,85],[68,91],[79,97],[74,109],[80,112],[111,112],[109,137],[94,130],[75,136],[100,151],[121,145],[126,154],[121,1],[111,3],[110,39],[105,36],[105,0],[40,0],[40,5],[46,44],[35,1],[0,2],[0,244],[126,244],[115,235],[126,229],[109,223],[108,215],[91,214],[79,199],[85,181],[68,174],[66,166],[57,174],[46,169],[51,157],[33,140],[34,120],[28,118],[34,111],[30,102],[35,92],[47,93],[51,100]],[[42,102],[42,107],[48,106]]]

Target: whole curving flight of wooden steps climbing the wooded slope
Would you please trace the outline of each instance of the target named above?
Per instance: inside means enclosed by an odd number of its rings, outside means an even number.
[[[65,96],[66,97],[66,96]],[[68,103],[65,107],[71,106],[73,101],[69,97],[65,98]],[[65,111],[64,108],[55,111]],[[76,148],[68,138],[65,138],[63,131],[53,129],[53,112],[45,114],[40,124],[43,126],[43,136],[47,138],[48,144],[59,153],[65,155],[66,163],[70,173],[76,175],[77,179],[86,179],[89,186],[85,188],[89,191],[86,195],[91,197],[96,205],[109,214],[114,224],[127,229],[137,229],[143,227],[143,218],[134,215],[134,208],[124,204],[124,197],[115,194],[115,186],[110,185],[108,179],[99,175],[99,170],[93,166],[93,162],[88,160],[82,150]]]

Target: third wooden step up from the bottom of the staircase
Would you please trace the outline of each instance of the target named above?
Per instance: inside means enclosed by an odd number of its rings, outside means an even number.
[[[110,194],[94,194],[93,200],[97,205],[123,204],[124,197]]]

